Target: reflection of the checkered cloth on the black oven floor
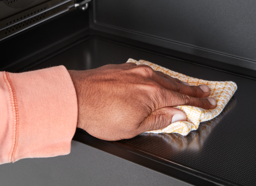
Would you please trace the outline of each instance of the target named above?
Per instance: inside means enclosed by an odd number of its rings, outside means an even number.
[[[145,138],[142,141],[146,143],[140,143],[138,144],[138,147],[142,149],[150,149],[150,146],[154,146],[154,148],[164,148],[166,149],[166,152],[170,153],[173,151],[182,152],[183,150],[192,150],[194,153],[197,153],[200,152],[204,142],[208,139],[208,136],[211,134],[214,127],[220,123],[221,119],[223,119],[235,105],[235,97],[232,97],[220,115],[210,121],[201,122],[198,129],[191,131],[187,136],[178,133],[142,133],[135,138],[121,140],[120,142],[125,143],[126,145],[135,145],[132,141],[136,141],[138,138]]]

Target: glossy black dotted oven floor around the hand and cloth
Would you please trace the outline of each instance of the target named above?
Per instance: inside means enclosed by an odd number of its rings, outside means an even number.
[[[65,65],[67,69],[85,70],[105,64],[120,64],[133,58],[144,59],[188,76],[210,81],[234,81],[238,89],[223,112],[200,124],[188,136],[178,134],[140,134],[118,142],[130,152],[144,152],[161,163],[175,163],[191,174],[204,175],[216,183],[255,185],[256,80],[207,67],[171,59],[96,38],[85,38],[77,45],[48,57],[40,64],[23,70]],[[157,165],[156,165],[157,166]],[[157,168],[156,168],[157,169]],[[216,179],[213,179],[216,178]],[[184,177],[184,179],[186,179]]]

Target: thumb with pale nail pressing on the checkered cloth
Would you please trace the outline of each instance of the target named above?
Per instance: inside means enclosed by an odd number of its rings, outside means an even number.
[[[163,129],[176,121],[186,121],[186,114],[173,107],[159,108],[151,112],[140,124],[140,133]]]

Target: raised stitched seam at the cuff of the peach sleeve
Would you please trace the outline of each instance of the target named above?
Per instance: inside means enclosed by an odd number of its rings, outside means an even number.
[[[17,106],[17,97],[14,90],[14,86],[12,81],[10,80],[10,76],[8,72],[3,72],[3,79],[7,84],[10,93],[10,102],[12,107],[12,115],[13,115],[13,139],[12,139],[12,148],[9,153],[9,162],[15,162],[15,153],[19,141],[19,110]]]

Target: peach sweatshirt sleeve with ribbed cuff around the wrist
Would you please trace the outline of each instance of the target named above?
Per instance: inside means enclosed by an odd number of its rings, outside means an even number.
[[[0,164],[70,152],[78,105],[64,66],[0,72]]]

